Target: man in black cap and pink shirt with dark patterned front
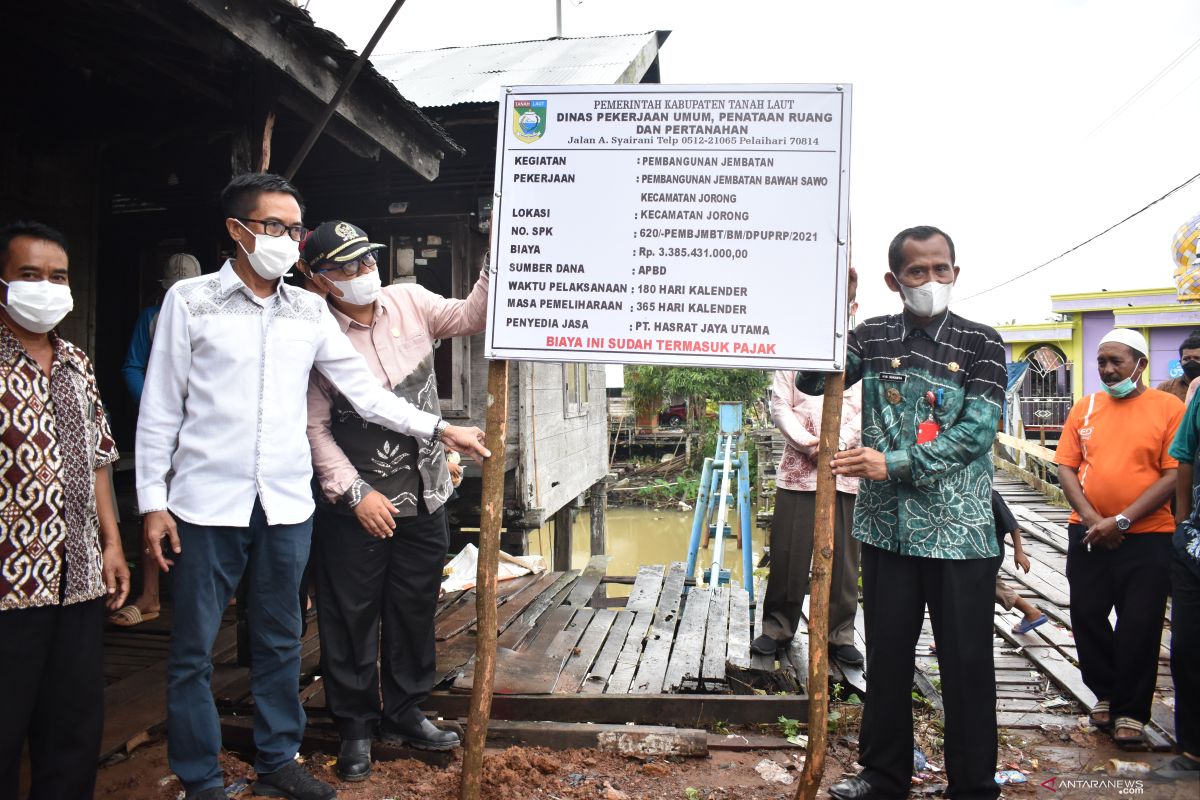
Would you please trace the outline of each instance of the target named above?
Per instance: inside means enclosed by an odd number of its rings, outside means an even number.
[[[437,414],[433,349],[484,330],[487,270],[463,300],[415,283],[382,287],[380,248],[358,225],[325,222],[305,241],[301,263],[378,383]],[[439,443],[365,421],[316,372],[308,440],[322,495],[314,548],[325,699],[342,739],[337,775],[362,781],[377,730],[425,750],[458,745],[457,734],[439,730],[419,708],[433,687],[444,504],[454,489]]]

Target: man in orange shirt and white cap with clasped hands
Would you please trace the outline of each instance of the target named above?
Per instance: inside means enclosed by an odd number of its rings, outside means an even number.
[[[1117,744],[1142,741],[1158,674],[1183,419],[1174,395],[1142,384],[1150,348],[1117,327],[1096,353],[1103,391],[1075,403],[1055,453],[1074,512],[1067,527],[1070,625],[1092,724]],[[1116,609],[1116,627],[1109,614]]]

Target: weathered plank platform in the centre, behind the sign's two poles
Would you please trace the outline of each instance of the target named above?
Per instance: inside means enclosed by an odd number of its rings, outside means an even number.
[[[607,563],[608,557],[594,557],[582,573],[500,584],[496,718],[566,722],[593,715],[583,718],[662,724],[668,698],[677,703],[668,716],[688,724],[709,716],[761,722],[806,708],[803,693],[774,696],[778,703],[772,703],[733,679],[751,662],[756,630],[745,589],[689,587],[683,563],[648,565],[638,570],[622,608],[598,596]],[[437,688],[426,710],[454,715],[469,700],[474,609],[473,591],[443,599],[434,618]],[[223,709],[235,712],[246,710],[248,698],[240,706],[227,700]],[[325,716],[319,684],[306,708],[314,718]]]

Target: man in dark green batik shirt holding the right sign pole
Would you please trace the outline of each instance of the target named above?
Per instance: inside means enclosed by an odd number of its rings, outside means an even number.
[[[912,777],[912,672],[925,607],[946,703],[947,796],[995,800],[996,676],[992,603],[1001,552],[991,515],[991,443],[1004,393],[996,331],[948,311],[959,276],[937,228],[900,231],[884,282],[904,313],[851,333],[846,384],[863,381],[863,446],[834,456],[835,475],[863,479],[853,536],[863,542],[870,691],[863,771],[838,800],[900,799]],[[851,300],[857,275],[851,271]],[[800,391],[824,379],[800,373]]]

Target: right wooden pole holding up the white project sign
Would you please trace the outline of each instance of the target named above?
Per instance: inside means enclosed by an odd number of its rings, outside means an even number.
[[[812,582],[809,584],[809,747],[796,800],[814,800],[824,775],[829,718],[829,583],[833,576],[833,528],[838,497],[830,461],[841,431],[841,396],[846,375],[826,375],[817,445],[816,521],[812,530]]]

